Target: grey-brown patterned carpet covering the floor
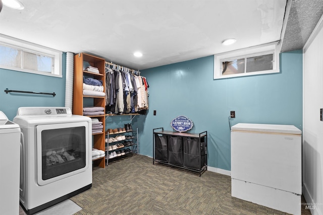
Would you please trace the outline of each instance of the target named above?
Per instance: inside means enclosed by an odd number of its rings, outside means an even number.
[[[71,198],[81,214],[287,214],[231,197],[230,176],[198,174],[162,165],[152,158],[130,155],[93,168],[93,186]],[[302,214],[310,214],[302,208]]]

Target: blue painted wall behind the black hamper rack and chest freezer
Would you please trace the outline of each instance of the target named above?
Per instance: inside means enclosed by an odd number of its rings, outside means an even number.
[[[292,124],[302,130],[302,50],[281,53],[281,73],[213,80],[213,56],[145,69],[149,111],[133,120],[139,152],[152,157],[152,129],[170,126],[179,115],[190,118],[190,132],[207,130],[208,165],[231,170],[231,125]],[[157,111],[153,116],[153,110]]]

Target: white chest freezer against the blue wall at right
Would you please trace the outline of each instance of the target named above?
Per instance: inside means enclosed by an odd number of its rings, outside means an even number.
[[[231,195],[301,214],[301,130],[238,123],[231,128]]]

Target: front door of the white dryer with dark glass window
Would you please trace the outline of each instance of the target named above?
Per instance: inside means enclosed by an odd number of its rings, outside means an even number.
[[[37,183],[45,185],[84,172],[89,166],[87,122],[38,125]]]

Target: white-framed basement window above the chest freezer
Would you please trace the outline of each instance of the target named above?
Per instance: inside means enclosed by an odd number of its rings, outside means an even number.
[[[278,42],[214,55],[214,79],[279,73]]]

